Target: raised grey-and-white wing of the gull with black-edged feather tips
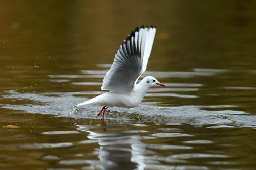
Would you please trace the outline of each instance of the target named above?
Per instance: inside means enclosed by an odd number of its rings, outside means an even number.
[[[103,79],[101,90],[130,91],[146,71],[156,27],[138,27],[120,45],[110,70]]]

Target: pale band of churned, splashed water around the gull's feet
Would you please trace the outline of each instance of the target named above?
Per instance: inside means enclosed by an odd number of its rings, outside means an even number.
[[[76,108],[76,104],[88,98],[80,95],[97,95],[101,91],[86,92],[45,92],[45,93],[19,93],[14,90],[5,91],[1,95],[3,100],[14,102],[0,105],[1,108],[23,110],[26,113],[47,113],[61,116],[73,116],[75,118],[95,119],[95,114],[101,106],[86,106]],[[165,96],[164,93],[148,93],[147,95]],[[172,96],[172,93],[169,94]],[[178,97],[195,98],[192,95],[179,95]],[[16,102],[17,101],[17,102]],[[28,104],[19,105],[20,102]],[[126,109],[111,107],[106,113],[106,118],[116,122],[132,122],[134,119],[139,123],[165,123],[167,125],[190,124],[190,125],[229,125],[234,127],[256,128],[256,116],[245,111],[231,110],[235,105],[185,105],[185,106],[156,106],[154,103],[142,103],[139,106]],[[214,109],[214,110],[212,110]],[[217,110],[218,109],[218,110]],[[216,111],[217,110],[217,111]],[[139,124],[141,126],[141,124]],[[218,127],[217,127],[218,128]]]

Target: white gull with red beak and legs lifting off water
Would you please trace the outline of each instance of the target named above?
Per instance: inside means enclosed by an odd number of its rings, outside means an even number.
[[[146,71],[150,57],[156,27],[136,28],[120,45],[110,70],[103,79],[101,90],[109,90],[77,106],[103,105],[97,117],[104,118],[107,107],[118,106],[132,108],[138,106],[147,90],[152,86],[165,86],[156,78],[147,76],[138,84],[139,77]]]

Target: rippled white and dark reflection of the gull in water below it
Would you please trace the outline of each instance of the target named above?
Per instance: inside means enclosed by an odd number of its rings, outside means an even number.
[[[77,130],[87,132],[88,139],[98,140],[99,150],[95,152],[102,164],[91,164],[101,169],[144,169],[146,144],[141,142],[142,136],[132,135],[129,131],[113,130],[118,126],[104,127],[81,125]],[[106,131],[106,129],[111,129]]]

